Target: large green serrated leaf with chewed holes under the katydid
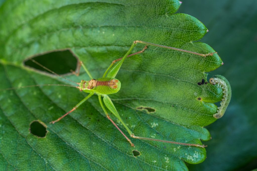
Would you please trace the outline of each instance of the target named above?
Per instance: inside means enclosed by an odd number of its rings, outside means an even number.
[[[204,54],[215,52],[207,44],[195,42],[208,31],[203,23],[187,14],[173,14],[180,5],[176,0],[6,1],[0,8],[0,88],[67,84],[62,78],[23,66],[33,55],[60,49],[69,48],[95,78],[122,57],[134,40]],[[133,52],[143,47],[138,44]],[[207,81],[205,72],[221,65],[217,54],[204,58],[148,46],[143,54],[126,59],[116,76],[122,88],[110,97],[136,136],[201,144],[200,139],[210,139],[203,126],[216,120],[214,103],[223,94],[217,86],[197,83]],[[66,77],[76,82],[90,79],[82,69],[79,77]],[[50,86],[2,91],[1,167],[187,170],[185,162],[205,160],[206,150],[199,147],[138,139],[131,139],[135,148],[131,147],[105,117],[95,96],[60,122],[49,124],[86,95],[75,88]],[[111,118],[125,132],[113,115]],[[33,120],[47,125],[46,137],[30,134]],[[133,150],[140,155],[135,157]]]

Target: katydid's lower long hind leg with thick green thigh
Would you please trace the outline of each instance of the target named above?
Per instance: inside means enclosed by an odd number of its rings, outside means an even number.
[[[166,141],[166,140],[161,140],[161,139],[153,139],[153,138],[147,138],[147,137],[138,137],[135,136],[132,131],[127,127],[127,125],[124,123],[124,121],[122,120],[121,116],[118,114],[115,106],[112,103],[112,100],[105,95],[104,96],[104,104],[106,105],[106,107],[118,118],[118,120],[120,120],[120,122],[122,123],[122,125],[126,128],[127,132],[130,134],[130,136],[132,138],[136,138],[136,139],[144,139],[144,140],[151,140],[151,141],[159,141],[159,142],[164,142],[164,143],[172,143],[172,144],[180,144],[180,145],[187,145],[187,146],[195,146],[195,147],[207,147],[205,145],[200,145],[200,144],[188,144],[188,143],[179,143],[179,142],[174,142],[174,141]]]

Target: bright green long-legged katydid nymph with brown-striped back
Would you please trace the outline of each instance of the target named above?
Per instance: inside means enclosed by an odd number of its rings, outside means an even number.
[[[133,53],[133,54],[130,54],[132,49],[136,46],[137,43],[142,43],[142,44],[145,44],[146,46],[141,51]],[[103,74],[103,77],[102,78],[98,78],[98,79],[97,78],[93,78],[91,76],[91,74],[89,73],[88,69],[86,68],[86,66],[82,62],[80,62],[80,65],[82,66],[82,68],[84,68],[84,70],[86,71],[86,73],[90,77],[90,80],[88,80],[88,81],[82,80],[81,82],[77,83],[78,86],[76,86],[76,88],[78,88],[80,91],[83,91],[83,92],[89,93],[89,94],[84,99],[82,99],[75,107],[73,107],[69,112],[67,112],[66,114],[64,114],[60,118],[58,118],[58,119],[56,119],[56,120],[54,120],[54,121],[52,121],[50,123],[54,124],[54,123],[60,121],[63,117],[67,116],[69,113],[71,113],[74,110],[76,110],[81,104],[86,102],[86,100],[89,99],[91,96],[97,95],[99,103],[100,103],[100,106],[102,107],[102,109],[103,109],[104,113],[106,114],[107,118],[122,133],[122,135],[127,139],[127,141],[131,144],[131,146],[134,146],[134,144],[122,132],[122,130],[114,123],[114,121],[109,117],[109,114],[107,113],[106,108],[115,117],[117,117],[117,119],[125,127],[125,129],[127,130],[128,134],[132,138],[143,139],[143,140],[153,140],[153,141],[172,143],[172,144],[179,144],[179,145],[195,146],[195,147],[201,147],[201,148],[206,147],[205,145],[200,145],[200,144],[188,144],[188,143],[180,143],[180,142],[174,142],[174,141],[167,141],[167,140],[161,140],[161,139],[154,139],[154,138],[148,138],[148,137],[135,136],[134,133],[130,130],[130,128],[128,128],[128,126],[125,124],[125,122],[123,121],[123,119],[121,118],[119,113],[117,112],[117,110],[116,110],[116,108],[115,108],[111,98],[109,98],[109,96],[108,96],[109,94],[117,93],[120,90],[120,88],[121,88],[121,82],[117,78],[115,78],[115,76],[117,75],[118,71],[120,70],[123,62],[125,61],[125,59],[127,57],[130,57],[130,56],[135,55],[135,54],[143,53],[145,51],[145,49],[147,48],[147,45],[157,46],[157,47],[162,47],[162,48],[168,48],[168,49],[172,49],[172,50],[176,50],[176,51],[181,51],[181,52],[185,52],[185,53],[191,53],[191,54],[199,55],[199,56],[202,56],[202,57],[212,56],[213,54],[217,53],[217,52],[212,52],[212,53],[207,53],[207,54],[200,54],[200,53],[191,52],[191,51],[187,51],[187,50],[183,50],[183,49],[178,49],[178,48],[174,48],[174,47],[169,47],[169,46],[163,46],[163,45],[158,45],[158,44],[153,44],[153,43],[148,43],[148,42],[143,42],[143,41],[134,41],[133,44],[131,45],[130,49],[127,51],[127,53],[122,58],[114,60],[111,63],[111,65],[106,69],[105,73]],[[30,59],[30,60],[33,61],[34,63],[40,65],[39,63],[37,63],[33,59]],[[42,65],[40,65],[40,66],[42,66]],[[47,68],[45,68],[45,69],[47,69]],[[47,69],[47,70],[49,71],[49,69]],[[50,70],[50,72],[52,72],[52,71]],[[56,74],[54,72],[52,72],[52,73]],[[58,75],[58,74],[56,74],[56,75]],[[40,85],[36,85],[36,86],[40,86]],[[103,99],[103,102],[102,102],[102,99]]]

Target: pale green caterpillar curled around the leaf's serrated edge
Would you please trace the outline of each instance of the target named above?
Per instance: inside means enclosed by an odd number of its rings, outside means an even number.
[[[213,76],[213,78],[210,78],[209,82],[210,84],[218,84],[218,87],[221,87],[223,90],[221,106],[217,108],[217,113],[213,115],[215,118],[221,118],[224,115],[231,99],[231,86],[227,79],[222,75]]]

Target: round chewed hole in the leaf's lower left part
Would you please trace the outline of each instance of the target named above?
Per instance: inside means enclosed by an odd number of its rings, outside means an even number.
[[[47,135],[47,128],[46,125],[38,120],[34,120],[30,124],[30,133],[38,136],[38,137],[45,137]]]

